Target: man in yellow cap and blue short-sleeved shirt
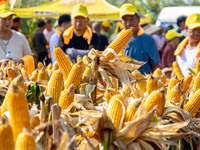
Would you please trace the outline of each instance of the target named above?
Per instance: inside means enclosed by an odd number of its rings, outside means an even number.
[[[124,29],[133,30],[133,37],[127,43],[124,53],[136,60],[146,62],[138,70],[149,74],[159,67],[160,59],[154,39],[144,33],[139,26],[140,17],[132,4],[124,4],[120,8],[120,18]]]

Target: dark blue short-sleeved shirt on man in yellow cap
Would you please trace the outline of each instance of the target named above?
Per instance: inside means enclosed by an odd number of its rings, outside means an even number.
[[[124,49],[124,53],[127,53],[127,56],[146,62],[138,69],[142,74],[151,73],[151,64],[160,63],[155,41],[150,35],[144,33],[139,36],[131,37],[127,45],[128,48]]]

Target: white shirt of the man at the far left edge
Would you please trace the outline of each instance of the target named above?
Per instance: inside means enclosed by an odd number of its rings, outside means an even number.
[[[7,51],[11,51],[11,57],[13,60],[20,60],[25,55],[32,55],[31,48],[25,36],[17,31],[12,30],[13,35],[10,40],[0,40],[0,59],[6,58]],[[7,43],[6,52],[2,48],[3,43]],[[3,46],[4,47],[4,46]]]

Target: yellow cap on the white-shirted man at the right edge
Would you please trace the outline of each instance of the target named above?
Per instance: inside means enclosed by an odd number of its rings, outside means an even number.
[[[194,13],[187,17],[185,25],[190,29],[200,27],[200,14]]]

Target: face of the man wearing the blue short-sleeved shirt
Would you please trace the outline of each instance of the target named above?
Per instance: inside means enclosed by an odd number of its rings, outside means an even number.
[[[138,30],[140,18],[137,15],[124,15],[121,19],[121,23],[124,29],[130,29],[133,27],[134,30]]]

